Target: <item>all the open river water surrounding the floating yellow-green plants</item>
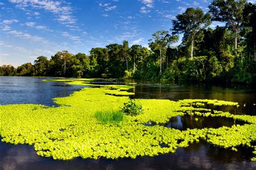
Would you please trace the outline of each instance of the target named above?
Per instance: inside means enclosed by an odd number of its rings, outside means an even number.
[[[42,82],[42,78],[0,77],[0,104],[36,103],[53,105],[51,98],[68,96],[84,86],[67,86],[62,82]],[[105,82],[100,82],[105,83]],[[255,115],[256,90],[244,86],[167,86],[138,84],[134,89],[134,98],[164,98],[182,100],[185,98],[208,98],[239,102],[245,107],[214,107],[215,110],[231,111],[233,114]],[[198,118],[198,121],[195,121]],[[176,117],[166,126],[172,128],[217,128],[242,124],[232,119],[201,118],[197,116]],[[86,159],[56,161],[36,155],[32,146],[10,145],[0,142],[0,170],[2,169],[256,169],[251,162],[252,150],[244,147],[238,152],[224,150],[200,141],[187,148],[178,148],[175,153],[156,157],[136,159]]]

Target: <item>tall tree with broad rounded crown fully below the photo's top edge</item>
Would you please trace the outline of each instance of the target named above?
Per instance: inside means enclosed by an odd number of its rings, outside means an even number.
[[[190,57],[193,58],[194,40],[199,34],[211,24],[211,16],[204,14],[200,8],[187,8],[187,10],[176,16],[176,20],[172,20],[173,34],[184,33],[183,41],[191,42]]]

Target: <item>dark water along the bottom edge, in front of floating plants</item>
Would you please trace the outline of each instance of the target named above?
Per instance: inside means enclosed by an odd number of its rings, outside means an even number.
[[[70,161],[38,157],[32,146],[0,143],[0,169],[253,169],[250,148],[238,151],[214,147],[204,141],[178,148],[175,153],[136,159],[82,159]],[[1,169],[1,170],[2,170]]]

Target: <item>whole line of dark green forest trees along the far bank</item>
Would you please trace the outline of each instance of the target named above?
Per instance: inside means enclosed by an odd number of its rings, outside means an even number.
[[[170,33],[152,34],[150,49],[123,41],[92,48],[90,55],[62,51],[50,60],[38,56],[33,64],[2,66],[0,75],[256,82],[256,6],[218,0],[208,8],[208,13],[188,8],[177,15]],[[226,25],[211,29],[212,21]],[[182,43],[172,47],[181,33]]]

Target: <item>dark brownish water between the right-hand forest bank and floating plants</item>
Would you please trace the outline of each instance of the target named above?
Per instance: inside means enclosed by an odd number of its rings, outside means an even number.
[[[211,84],[179,85],[138,83],[133,98],[158,98],[172,101],[184,99],[217,99],[238,102],[240,107],[207,106],[214,110],[228,111],[232,114],[256,115],[256,87],[241,84]]]

